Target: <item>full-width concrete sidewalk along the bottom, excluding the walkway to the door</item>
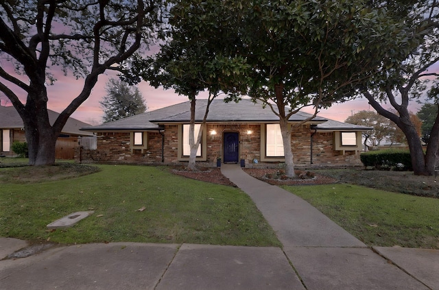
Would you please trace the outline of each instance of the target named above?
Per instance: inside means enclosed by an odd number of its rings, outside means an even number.
[[[0,238],[1,258],[26,243]],[[439,251],[95,243],[0,261],[0,289],[439,289]],[[399,268],[401,267],[401,269]],[[298,278],[298,274],[302,282]]]

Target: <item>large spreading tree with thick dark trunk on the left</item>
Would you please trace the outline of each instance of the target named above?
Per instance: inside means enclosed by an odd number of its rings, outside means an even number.
[[[89,97],[99,75],[121,71],[123,62],[156,35],[160,8],[155,0],[0,1],[0,90],[23,119],[30,165],[55,161],[56,138],[69,116]],[[55,81],[57,68],[84,77],[84,85],[51,124],[47,85]]]

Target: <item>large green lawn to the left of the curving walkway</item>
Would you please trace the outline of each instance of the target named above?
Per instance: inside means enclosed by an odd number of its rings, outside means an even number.
[[[0,237],[57,243],[281,246],[250,197],[239,189],[175,176],[165,167],[99,168],[68,180],[1,184]],[[142,207],[145,210],[137,211]],[[47,230],[48,223],[82,210],[95,213],[72,228]]]

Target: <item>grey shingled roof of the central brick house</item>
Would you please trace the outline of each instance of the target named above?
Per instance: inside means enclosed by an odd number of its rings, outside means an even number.
[[[195,106],[195,122],[201,123],[206,111],[207,100],[198,99]],[[303,121],[312,117],[306,112],[298,112],[293,114],[289,119],[290,122]],[[151,112],[137,114],[132,117],[120,119],[110,123],[104,123],[97,126],[89,126],[82,128],[86,131],[149,131],[149,130],[163,130],[164,124],[167,123],[189,123],[191,119],[191,103],[186,101],[184,103],[168,106]],[[209,114],[207,115],[207,123],[224,123],[224,122],[252,122],[252,123],[276,123],[279,118],[272,112],[270,108],[264,108],[261,104],[254,104],[250,99],[242,99],[239,103],[230,102],[225,103],[222,99],[213,100],[209,107]],[[330,123],[328,123],[331,121]],[[332,123],[336,122],[336,123]],[[318,129],[331,130],[331,125],[347,130],[364,130],[362,126],[356,126],[325,119],[319,116],[311,119],[311,123],[318,125]],[[328,123],[328,125],[324,125]],[[343,127],[343,124],[346,126]],[[320,126],[322,126],[320,128]],[[356,129],[355,129],[356,128]],[[366,128],[365,130],[370,130]]]

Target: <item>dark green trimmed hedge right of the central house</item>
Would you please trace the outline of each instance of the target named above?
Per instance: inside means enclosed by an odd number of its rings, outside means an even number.
[[[361,153],[361,162],[365,167],[379,170],[413,170],[410,152],[399,149],[386,149]]]

